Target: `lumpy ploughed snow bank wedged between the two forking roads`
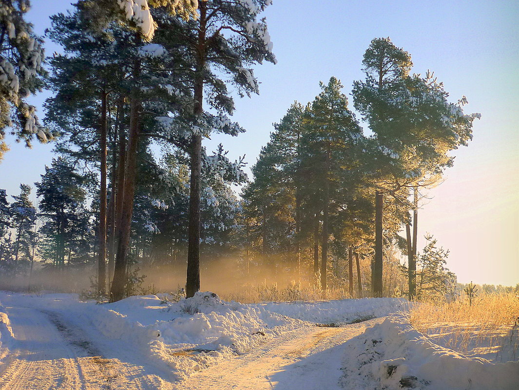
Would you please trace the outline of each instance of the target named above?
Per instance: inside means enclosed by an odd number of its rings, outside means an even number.
[[[179,378],[307,326],[264,308],[224,302],[212,292],[198,292],[176,303],[154,295],[136,296],[92,309],[91,322],[104,336],[134,343],[166,362]]]

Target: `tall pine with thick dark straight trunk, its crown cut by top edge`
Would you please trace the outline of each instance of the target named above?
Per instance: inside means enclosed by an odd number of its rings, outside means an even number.
[[[184,46],[184,60],[194,69],[190,74],[193,88],[193,101],[186,105],[192,107],[184,113],[187,126],[180,126],[189,139],[190,147],[190,200],[189,200],[189,247],[187,256],[186,295],[191,297],[200,289],[200,192],[202,166],[202,137],[211,131],[222,129],[222,119],[204,112],[203,103],[208,103],[222,113],[231,113],[233,100],[228,95],[226,82],[215,72],[223,69],[230,75],[241,94],[258,92],[258,83],[248,68],[263,60],[275,62],[271,52],[272,44],[264,20],[257,16],[270,4],[269,0],[240,1],[203,1],[198,3],[198,18],[188,22],[173,19],[168,26],[158,31],[171,33],[171,41]],[[237,126],[222,129],[233,135],[243,131]],[[172,130],[179,130],[179,121],[163,122]],[[216,126],[215,126],[216,125]],[[220,130],[220,131],[222,131]]]

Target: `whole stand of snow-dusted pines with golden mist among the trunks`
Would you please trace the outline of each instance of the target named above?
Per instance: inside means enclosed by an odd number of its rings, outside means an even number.
[[[286,107],[252,177],[245,156],[203,146],[245,131],[235,100],[260,92],[254,66],[276,63],[269,4],[81,0],[52,16],[46,38],[62,52],[47,57],[28,2],[0,5],[0,142],[55,154],[34,186],[0,189],[2,288],[110,301],[260,284],[323,298],[459,291],[433,234],[417,248],[418,216],[481,115],[432,71],[412,73],[390,38],[371,41],[351,88],[331,77]],[[42,89],[37,113],[26,98]]]

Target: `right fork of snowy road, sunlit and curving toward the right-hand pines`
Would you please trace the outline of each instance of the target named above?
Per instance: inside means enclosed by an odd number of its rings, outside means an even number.
[[[179,390],[334,390],[344,355],[344,343],[376,318],[341,328],[309,327],[288,332],[254,352],[203,370],[177,386]]]

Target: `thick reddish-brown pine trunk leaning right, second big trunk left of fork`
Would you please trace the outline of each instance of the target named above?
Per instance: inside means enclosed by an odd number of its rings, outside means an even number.
[[[122,190],[120,223],[117,226],[117,254],[115,256],[114,280],[112,282],[110,297],[112,302],[125,297],[125,286],[127,282],[127,254],[130,244],[131,216],[133,213],[133,196],[135,193],[135,168],[140,132],[140,90],[138,85],[140,72],[140,60],[135,60],[132,72],[133,86],[130,97],[130,132],[128,135],[128,149],[126,153],[125,180]]]

